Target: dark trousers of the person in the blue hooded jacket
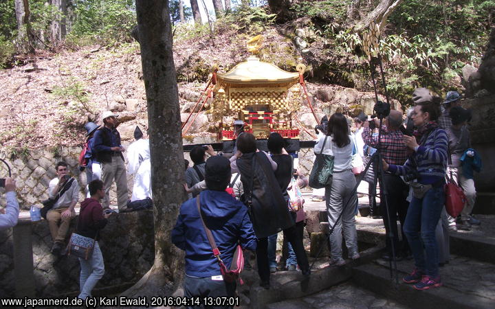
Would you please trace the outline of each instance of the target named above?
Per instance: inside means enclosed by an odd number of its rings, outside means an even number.
[[[184,297],[234,297],[236,283],[228,283],[223,280],[212,280],[211,277],[193,278],[184,276]],[[232,308],[233,306],[215,307],[215,308]],[[204,308],[187,307],[187,308]]]

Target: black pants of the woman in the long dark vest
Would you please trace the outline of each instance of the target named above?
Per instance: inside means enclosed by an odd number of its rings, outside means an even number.
[[[284,238],[290,242],[300,270],[303,273],[309,271],[309,262],[303,245],[303,238],[300,237],[296,225],[283,230]],[[259,238],[256,247],[256,262],[258,263],[258,274],[262,283],[270,282],[270,263],[268,261],[268,238]]]

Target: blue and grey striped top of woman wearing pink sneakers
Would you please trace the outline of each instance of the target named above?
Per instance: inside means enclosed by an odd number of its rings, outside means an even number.
[[[424,139],[425,137],[423,137]],[[396,175],[411,174],[416,170],[418,182],[423,185],[437,183],[445,178],[447,168],[447,133],[441,128],[432,130],[421,146],[404,165],[389,165],[388,171]]]

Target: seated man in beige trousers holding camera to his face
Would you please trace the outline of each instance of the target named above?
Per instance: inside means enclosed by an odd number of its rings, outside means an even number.
[[[79,198],[79,183],[69,176],[69,169],[64,161],[56,163],[55,170],[57,176],[50,181],[48,196],[56,201],[47,212],[46,218],[54,241],[52,253],[58,255],[64,248],[70,220],[76,216],[74,207]]]

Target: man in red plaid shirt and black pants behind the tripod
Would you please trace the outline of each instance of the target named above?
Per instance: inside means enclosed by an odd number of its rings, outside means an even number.
[[[376,126],[380,126],[378,119],[375,120]],[[384,119],[384,126],[382,126],[381,139],[381,154],[382,159],[386,162],[395,162],[393,164],[403,165],[407,158],[407,147],[404,144],[404,135],[399,130],[402,125],[402,113],[400,111],[390,111],[390,115]],[[364,144],[373,148],[378,148],[378,136],[373,136],[371,129],[369,128],[369,122],[364,122],[364,130],[362,133]],[[388,192],[387,205],[388,209],[385,209],[385,203],[380,203],[380,211],[383,216],[385,229],[387,234],[390,233],[389,227],[393,232],[393,242],[395,248],[395,257],[397,260],[409,255],[409,247],[402,227],[404,226],[404,220],[406,219],[408,202],[406,198],[408,196],[409,187],[399,176],[391,174],[390,172],[384,173],[384,179],[382,179],[383,185]],[[386,211],[390,211],[387,213]],[[399,238],[397,233],[397,216],[401,223],[402,244],[399,247]],[[388,218],[390,218],[390,225],[388,224]],[[384,258],[390,259],[392,257],[392,244],[389,238],[386,239],[386,247],[388,253],[384,255]]]

